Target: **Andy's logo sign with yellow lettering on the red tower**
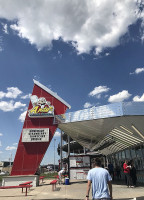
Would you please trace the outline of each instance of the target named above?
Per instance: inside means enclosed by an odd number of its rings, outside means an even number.
[[[33,108],[29,110],[29,117],[53,117],[54,106],[44,97],[38,98],[36,95],[31,96]]]

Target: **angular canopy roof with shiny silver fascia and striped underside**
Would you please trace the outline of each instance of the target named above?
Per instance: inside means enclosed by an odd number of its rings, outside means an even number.
[[[144,102],[121,102],[67,113],[58,127],[104,155],[144,144]]]

